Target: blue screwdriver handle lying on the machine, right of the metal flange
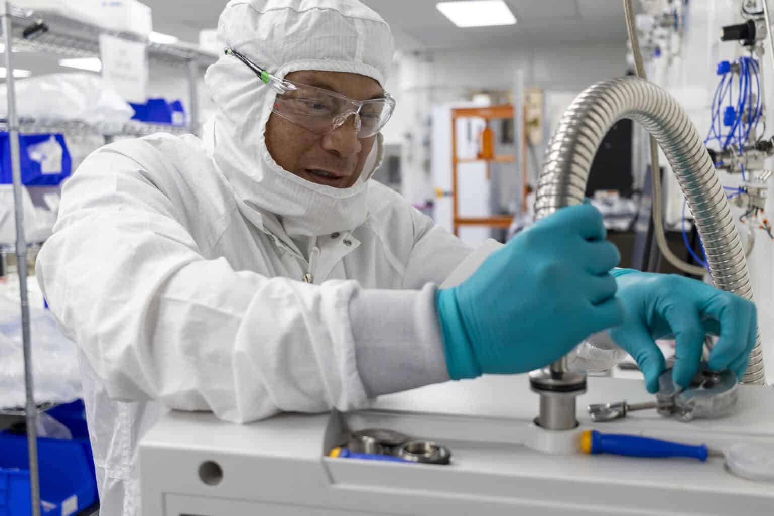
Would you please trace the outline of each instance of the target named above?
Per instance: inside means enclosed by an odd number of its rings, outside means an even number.
[[[707,446],[670,443],[649,437],[603,434],[591,431],[591,453],[613,453],[634,457],[690,457],[707,460]]]

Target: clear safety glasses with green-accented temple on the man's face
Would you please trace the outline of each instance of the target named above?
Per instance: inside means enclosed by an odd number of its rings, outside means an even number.
[[[395,99],[390,94],[369,101],[354,101],[324,88],[279,79],[236,50],[227,48],[225,52],[245,63],[277,92],[274,113],[311,132],[326,135],[354,117],[355,134],[358,138],[368,138],[382,130],[395,109]]]

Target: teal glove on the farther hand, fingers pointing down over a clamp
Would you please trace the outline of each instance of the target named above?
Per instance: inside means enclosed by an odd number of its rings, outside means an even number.
[[[752,302],[731,292],[679,275],[654,274],[622,268],[613,271],[625,320],[610,337],[635,358],[645,374],[646,388],[659,389],[664,357],[654,339],[674,337],[676,361],[672,378],[687,387],[698,371],[704,337],[719,335],[708,365],[730,369],[741,380],[758,333]]]

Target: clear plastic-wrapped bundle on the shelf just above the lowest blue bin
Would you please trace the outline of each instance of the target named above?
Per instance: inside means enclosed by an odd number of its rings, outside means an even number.
[[[13,292],[0,295],[0,408],[25,405],[22,319]],[[41,303],[42,304],[42,303]],[[65,403],[81,397],[77,347],[53,314],[29,307],[35,402]]]

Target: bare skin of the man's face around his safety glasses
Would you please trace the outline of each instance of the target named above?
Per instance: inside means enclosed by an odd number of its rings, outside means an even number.
[[[358,73],[300,70],[285,78],[358,101],[384,93],[376,80]],[[312,183],[336,188],[348,188],[358,181],[375,139],[376,135],[355,135],[354,116],[340,128],[319,135],[272,113],[265,132],[266,147],[277,165]]]

